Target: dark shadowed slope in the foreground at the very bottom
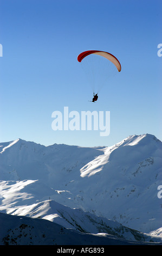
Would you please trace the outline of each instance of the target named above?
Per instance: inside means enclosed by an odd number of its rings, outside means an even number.
[[[104,233],[84,234],[47,220],[2,213],[0,226],[0,245],[162,245],[127,241]]]

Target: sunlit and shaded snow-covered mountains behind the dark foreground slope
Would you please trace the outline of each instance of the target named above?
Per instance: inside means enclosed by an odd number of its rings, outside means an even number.
[[[112,147],[96,148],[45,147],[17,139],[1,143],[0,151],[1,212],[46,218],[76,230],[88,227],[89,233],[100,228],[108,232],[107,224],[98,225],[101,220],[144,233],[162,227],[157,196],[162,143],[153,135],[129,136]],[[89,216],[98,224],[88,222]],[[84,226],[83,218],[89,224]]]

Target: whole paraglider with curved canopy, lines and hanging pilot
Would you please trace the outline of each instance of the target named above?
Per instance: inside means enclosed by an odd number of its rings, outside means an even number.
[[[95,59],[90,59],[90,56],[96,56]],[[89,57],[88,57],[89,56]],[[101,57],[97,57],[101,56]],[[103,58],[106,59],[103,61]],[[94,57],[93,57],[94,58]],[[85,71],[87,75],[91,80],[91,84],[93,87],[93,100],[92,102],[95,102],[98,100],[98,93],[99,89],[96,90],[94,89],[95,86],[101,86],[103,82],[107,80],[107,78],[111,77],[113,72],[116,72],[116,69],[120,72],[121,71],[121,65],[119,60],[111,53],[109,52],[104,52],[104,51],[96,51],[96,50],[90,50],[90,51],[85,51],[81,52],[79,56],[77,56],[78,62],[84,63]],[[98,79],[98,81],[96,81]],[[102,82],[103,80],[103,82]],[[94,92],[97,92],[96,94]]]

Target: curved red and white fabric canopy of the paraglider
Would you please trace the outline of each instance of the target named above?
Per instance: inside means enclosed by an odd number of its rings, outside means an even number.
[[[98,54],[98,55],[100,55],[102,57],[105,57],[106,59],[111,61],[116,66],[116,68],[118,69],[119,72],[121,71],[121,65],[120,65],[119,60],[115,56],[113,56],[113,54],[111,54],[109,52],[94,51],[94,50],[85,51],[85,52],[80,53],[79,56],[77,56],[77,60],[79,62],[81,62],[82,59],[87,57],[89,54]]]

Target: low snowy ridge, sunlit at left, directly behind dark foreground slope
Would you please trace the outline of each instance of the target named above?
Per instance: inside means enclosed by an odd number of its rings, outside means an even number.
[[[68,206],[47,200],[41,203],[13,208],[12,215],[23,215],[33,218],[42,218],[62,225],[64,228],[75,229],[82,233],[107,233],[116,237],[132,241],[162,242],[157,234],[142,234],[137,230],[124,227],[116,221],[95,216],[81,209],[71,209]]]

